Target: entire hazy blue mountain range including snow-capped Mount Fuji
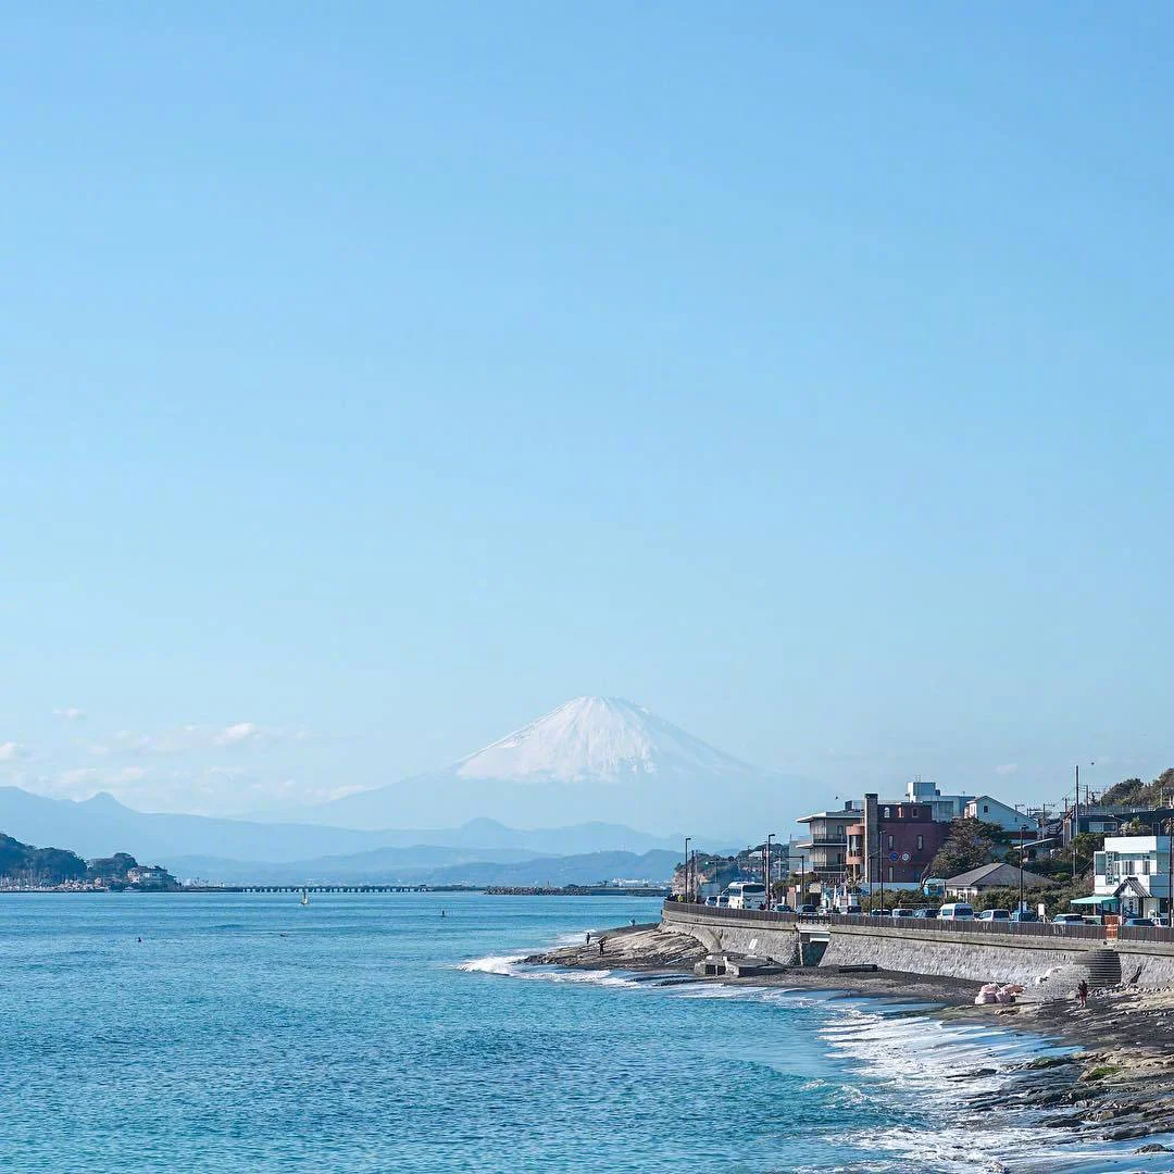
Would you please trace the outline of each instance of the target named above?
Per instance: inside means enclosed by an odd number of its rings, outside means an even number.
[[[205,879],[259,879],[276,875],[265,866],[282,864],[299,878],[534,884],[566,876],[549,863],[555,857],[614,875],[640,871],[636,861],[649,852],[680,859],[680,835],[632,824],[684,826],[699,850],[762,838],[761,829],[785,826],[803,783],[740,762],[630,701],[576,697],[445,770],[281,823],[148,814],[106,794],[74,802],[5,787],[0,831],[82,856],[116,844]],[[437,826],[452,817],[463,819],[459,826]],[[615,859],[591,861],[599,852]],[[508,872],[514,865],[517,876]],[[531,865],[538,871],[526,872]]]

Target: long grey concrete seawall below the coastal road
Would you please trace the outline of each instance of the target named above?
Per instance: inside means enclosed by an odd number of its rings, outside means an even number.
[[[972,978],[976,983],[1032,983],[1059,966],[1065,976],[1088,977],[1093,985],[1128,981],[1140,967],[1142,986],[1174,986],[1174,944],[1106,942],[1051,935],[1010,935],[974,927],[973,932],[904,925],[796,925],[794,922],[716,910],[674,909],[666,903],[662,929],[688,933],[707,949],[764,954],[782,963],[799,960],[801,938],[826,936],[819,966],[875,964],[912,974]],[[803,950],[804,960],[810,960]]]

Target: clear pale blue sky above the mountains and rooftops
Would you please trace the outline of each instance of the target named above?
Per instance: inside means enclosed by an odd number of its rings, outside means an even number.
[[[583,693],[812,797],[1174,761],[1169,5],[5,41],[0,782],[245,810]]]

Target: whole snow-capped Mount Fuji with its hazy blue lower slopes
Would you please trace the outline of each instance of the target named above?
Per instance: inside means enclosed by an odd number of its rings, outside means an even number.
[[[802,785],[630,701],[576,697],[444,770],[348,795],[306,815],[359,829],[475,816],[528,828],[605,819],[660,834],[695,828],[741,842],[797,814]]]

